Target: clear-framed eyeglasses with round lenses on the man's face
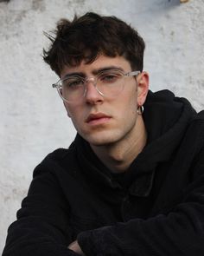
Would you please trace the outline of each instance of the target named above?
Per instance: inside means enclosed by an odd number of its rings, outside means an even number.
[[[124,78],[138,75],[140,71],[124,73],[120,69],[110,69],[100,72],[94,77],[82,77],[80,75],[67,75],[53,84],[62,100],[76,102],[86,95],[86,83],[92,82],[100,95],[114,97],[124,89]]]

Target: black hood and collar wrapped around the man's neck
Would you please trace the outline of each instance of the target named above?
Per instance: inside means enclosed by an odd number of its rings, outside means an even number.
[[[129,169],[124,174],[112,174],[92,152],[89,144],[77,135],[74,143],[81,169],[88,181],[92,181],[92,186],[99,190],[104,186],[106,192],[107,187],[128,187],[131,194],[147,196],[157,165],[169,161],[172,154],[175,154],[195,115],[194,108],[186,99],[175,97],[169,90],[156,93],[149,91],[143,112],[148,142]]]

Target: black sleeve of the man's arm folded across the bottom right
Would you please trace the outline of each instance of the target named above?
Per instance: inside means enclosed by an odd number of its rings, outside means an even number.
[[[204,255],[204,148],[192,175],[184,200],[171,212],[80,233],[83,252],[89,256]]]

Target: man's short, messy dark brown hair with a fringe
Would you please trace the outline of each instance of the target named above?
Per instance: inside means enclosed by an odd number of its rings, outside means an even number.
[[[48,50],[43,49],[43,59],[59,76],[66,65],[91,63],[99,55],[124,56],[131,69],[143,71],[143,38],[116,16],[99,16],[93,12],[75,15],[73,21],[61,19],[54,36],[48,33],[46,36],[51,45]]]

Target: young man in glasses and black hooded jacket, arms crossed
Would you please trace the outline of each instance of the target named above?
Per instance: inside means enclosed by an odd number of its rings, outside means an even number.
[[[204,255],[204,112],[149,90],[143,39],[116,17],[48,37],[77,136],[35,168],[3,256]]]

